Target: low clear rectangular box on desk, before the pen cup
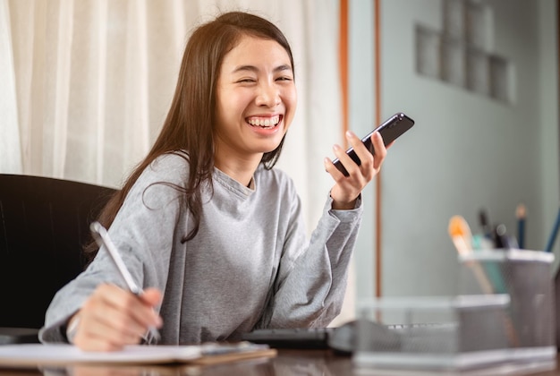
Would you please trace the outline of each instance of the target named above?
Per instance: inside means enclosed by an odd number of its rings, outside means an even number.
[[[358,309],[357,367],[457,371],[510,360],[509,295],[385,297]]]

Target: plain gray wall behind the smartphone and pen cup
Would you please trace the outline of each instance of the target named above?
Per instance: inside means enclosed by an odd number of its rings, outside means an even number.
[[[350,2],[352,130],[374,122],[373,9]],[[447,225],[460,214],[479,232],[479,209],[515,232],[528,209],[526,247],[543,249],[559,201],[556,2],[487,0],[492,52],[513,66],[506,104],[420,75],[415,26],[442,29],[440,0],[381,1],[381,117],[416,125],[395,143],[382,172],[383,295],[453,295],[457,254]],[[373,185],[373,184],[372,184]],[[355,253],[358,299],[374,295],[374,187]],[[555,252],[558,252],[556,241]]]

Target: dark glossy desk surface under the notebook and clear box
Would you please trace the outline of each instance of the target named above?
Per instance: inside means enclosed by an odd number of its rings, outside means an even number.
[[[556,364],[539,365],[532,370],[513,370],[508,375],[536,375],[536,376],[560,376],[560,356]],[[213,366],[193,367],[188,365],[165,365],[165,366],[137,366],[137,365],[74,365],[68,368],[41,370],[10,370],[1,369],[0,376],[4,375],[73,375],[73,376],[135,376],[135,375],[185,375],[185,376],[235,376],[235,375],[266,375],[266,376],[352,376],[352,375],[433,375],[434,372],[366,372],[358,370],[352,364],[349,356],[334,355],[325,350],[279,350],[278,355],[269,359],[258,359],[242,361],[237,363],[224,363]],[[436,373],[437,374],[437,373]],[[439,373],[460,375],[494,375],[496,372],[462,372],[462,373]]]

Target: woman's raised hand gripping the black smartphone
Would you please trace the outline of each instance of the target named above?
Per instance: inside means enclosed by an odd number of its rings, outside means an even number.
[[[327,172],[335,179],[335,186],[331,189],[331,198],[333,199],[333,209],[354,209],[356,200],[360,196],[364,187],[378,175],[383,160],[386,157],[387,148],[383,144],[383,139],[379,132],[371,135],[371,142],[375,150],[375,156],[371,155],[369,150],[361,142],[353,132],[346,132],[346,139],[360,158],[361,165],[358,166],[352,158],[346,154],[341,146],[335,145],[333,150],[336,158],[340,160],[348,176],[345,176],[338,168],[335,167],[333,161],[325,158],[325,168]]]

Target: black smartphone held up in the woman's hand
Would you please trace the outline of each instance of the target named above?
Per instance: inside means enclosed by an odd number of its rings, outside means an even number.
[[[412,120],[407,115],[404,115],[403,113],[398,113],[389,117],[383,124],[379,125],[376,129],[369,132],[369,134],[361,139],[361,141],[366,146],[366,148],[368,148],[369,152],[371,152],[371,154],[374,154],[373,145],[371,144],[371,135],[373,134],[373,132],[378,131],[381,134],[381,137],[383,137],[383,143],[385,145],[388,145],[389,143],[395,141],[401,134],[411,129],[412,125],[414,125],[414,120]],[[352,158],[352,160],[356,162],[358,166],[361,165],[360,158],[358,158],[356,152],[352,148],[346,150],[346,154],[348,154],[348,156]],[[343,164],[340,162],[340,160],[338,160],[338,158],[336,158],[333,163],[335,164],[336,168],[338,168],[340,172],[344,174],[344,176],[348,176],[348,171],[346,171],[346,168],[344,168]]]

